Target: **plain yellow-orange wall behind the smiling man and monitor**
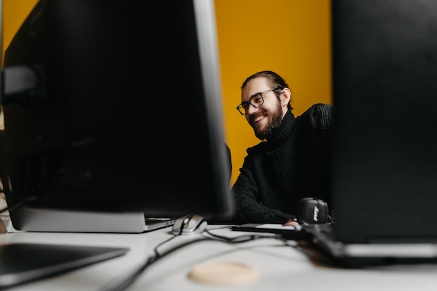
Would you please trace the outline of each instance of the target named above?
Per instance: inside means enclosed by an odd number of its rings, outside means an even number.
[[[37,0],[3,0],[3,52]],[[235,107],[240,87],[274,70],[293,92],[295,115],[331,104],[330,0],[216,0],[225,136],[237,179],[246,149],[260,142]]]

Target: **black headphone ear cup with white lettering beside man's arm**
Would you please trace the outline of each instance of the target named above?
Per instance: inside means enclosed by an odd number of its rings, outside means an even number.
[[[297,202],[297,221],[300,224],[329,223],[327,203],[316,197],[305,197]]]

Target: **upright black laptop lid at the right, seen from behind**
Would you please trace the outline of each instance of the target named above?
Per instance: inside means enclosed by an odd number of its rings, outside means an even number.
[[[332,5],[336,235],[437,241],[437,1]]]

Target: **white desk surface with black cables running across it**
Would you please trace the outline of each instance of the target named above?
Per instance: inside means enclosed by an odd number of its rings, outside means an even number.
[[[218,225],[210,225],[216,228]],[[124,256],[82,267],[66,274],[27,283],[13,291],[87,291],[99,290],[112,278],[133,269],[153,254],[153,249],[172,236],[170,228],[145,234],[31,233],[1,234],[0,244],[31,242],[46,244],[79,244],[90,246],[124,246],[131,248]],[[212,230],[216,234],[235,236],[246,232],[228,229]],[[194,239],[180,236],[172,244]],[[289,241],[294,244],[295,241]],[[165,245],[163,248],[165,249]],[[195,264],[209,260],[242,262],[257,269],[255,283],[233,286],[205,285],[191,281],[187,274]],[[244,291],[244,290],[437,290],[437,264],[417,266],[338,269],[311,262],[307,255],[276,239],[261,239],[242,244],[201,241],[184,246],[152,264],[126,290],[141,291]]]

